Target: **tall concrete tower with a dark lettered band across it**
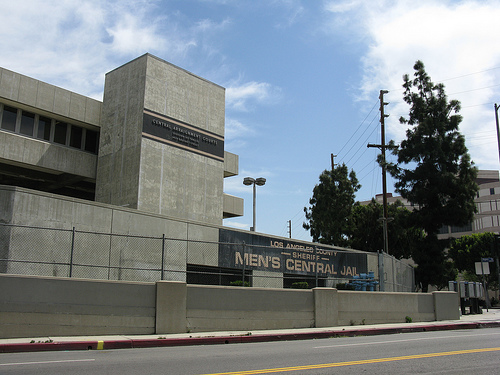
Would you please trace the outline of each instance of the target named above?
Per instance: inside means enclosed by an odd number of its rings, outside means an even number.
[[[221,224],[225,89],[150,54],[106,75],[96,200]]]

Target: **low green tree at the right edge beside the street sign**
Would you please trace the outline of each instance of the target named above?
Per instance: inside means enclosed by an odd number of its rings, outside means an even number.
[[[456,268],[463,273],[465,280],[480,281],[482,278],[476,275],[475,263],[481,258],[497,256],[495,247],[495,235],[493,233],[473,233],[462,236],[453,241],[449,249],[449,255],[455,262]],[[498,288],[498,271],[495,263],[490,263],[490,274],[486,277],[490,289]]]

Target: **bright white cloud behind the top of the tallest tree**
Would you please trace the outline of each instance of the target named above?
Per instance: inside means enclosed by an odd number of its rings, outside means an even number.
[[[398,121],[408,113],[402,76],[413,74],[415,61],[422,60],[431,79],[443,81],[448,97],[461,101],[461,132],[472,159],[480,168],[498,168],[493,102],[500,100],[495,86],[500,69],[490,68],[500,67],[500,49],[494,47],[500,35],[500,1],[346,1],[329,2],[325,9],[332,12],[331,23],[348,17],[354,37],[367,40],[360,97],[372,102],[380,89],[390,90],[388,138],[404,137]],[[491,141],[479,145],[474,141],[478,133],[489,134]]]

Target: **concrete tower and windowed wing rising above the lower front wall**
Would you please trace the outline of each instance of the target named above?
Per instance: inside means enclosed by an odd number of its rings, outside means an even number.
[[[0,183],[221,225],[243,215],[222,192],[224,101],[149,54],[106,75],[103,102],[0,68]]]

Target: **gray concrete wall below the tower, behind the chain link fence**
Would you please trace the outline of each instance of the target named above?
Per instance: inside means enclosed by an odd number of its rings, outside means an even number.
[[[3,227],[5,233],[0,238],[2,259],[54,262],[50,265],[15,262],[6,265],[2,262],[3,269],[0,270],[3,272],[69,276],[69,266],[56,263],[68,263],[70,260],[73,227],[79,231],[102,233],[78,235],[79,240],[74,244],[74,263],[116,267],[109,271],[95,268],[89,273],[88,267],[74,266],[73,277],[141,281],[161,279],[157,271],[161,265],[161,239],[138,238],[134,242],[134,238],[130,237],[113,236],[111,239],[106,235],[108,233],[150,237],[164,234],[169,239],[165,249],[166,280],[185,281],[188,262],[217,266],[218,227],[10,186],[0,186],[0,204],[0,220],[3,222],[65,230],[26,231],[19,227]],[[188,249],[190,259],[187,259]]]

